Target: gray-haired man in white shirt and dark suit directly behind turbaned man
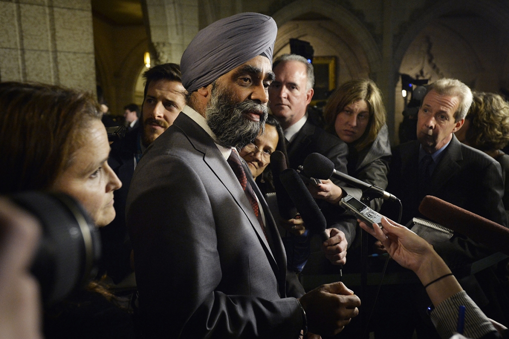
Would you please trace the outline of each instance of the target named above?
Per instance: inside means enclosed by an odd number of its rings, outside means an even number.
[[[320,153],[334,163],[336,171],[347,174],[348,146],[308,119],[307,106],[313,98],[315,84],[313,65],[303,56],[283,54],[274,61],[273,70],[276,77],[269,87],[269,106],[284,130],[290,167],[297,170],[309,154]],[[344,186],[341,181],[332,180],[336,185]],[[356,221],[342,216],[338,212],[341,208],[337,206],[325,201],[319,204],[327,219],[330,239],[324,244],[312,242],[310,258],[303,263],[306,265],[304,270],[308,273],[325,273],[324,270],[333,273],[335,270],[324,263],[324,253],[330,263],[345,264],[347,248],[355,239]],[[293,249],[289,247],[293,246],[291,242],[295,239],[290,237],[287,240],[287,254],[290,255]],[[294,269],[301,270],[303,264],[297,263]]]

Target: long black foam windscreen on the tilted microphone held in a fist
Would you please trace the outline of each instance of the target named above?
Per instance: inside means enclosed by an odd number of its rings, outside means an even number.
[[[299,174],[293,168],[288,168],[281,173],[280,179],[306,228],[314,233],[323,233],[327,228],[327,221]]]

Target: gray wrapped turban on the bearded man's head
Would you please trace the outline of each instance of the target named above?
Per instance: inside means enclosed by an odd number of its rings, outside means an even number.
[[[180,68],[182,84],[189,92],[239,67],[257,55],[272,63],[277,25],[270,16],[240,13],[211,23],[187,46]]]

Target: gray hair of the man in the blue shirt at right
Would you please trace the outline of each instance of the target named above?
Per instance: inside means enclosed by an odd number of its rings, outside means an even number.
[[[426,95],[435,91],[440,95],[447,95],[460,98],[458,110],[454,113],[456,122],[465,118],[470,105],[472,105],[472,91],[466,84],[457,79],[439,79],[426,88]],[[425,95],[425,97],[426,97]]]

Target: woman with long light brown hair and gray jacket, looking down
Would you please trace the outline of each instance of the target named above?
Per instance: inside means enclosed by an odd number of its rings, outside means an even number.
[[[348,174],[385,189],[391,153],[382,94],[375,82],[357,79],[343,83],[329,98],[324,118],[325,129],[348,145]],[[343,190],[325,180],[315,196],[337,203],[346,194],[360,199],[362,191]],[[381,205],[381,199],[371,201],[374,210],[380,210]]]

